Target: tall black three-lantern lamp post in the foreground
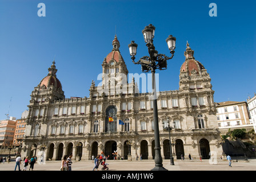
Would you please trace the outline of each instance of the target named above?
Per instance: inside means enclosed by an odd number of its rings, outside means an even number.
[[[149,24],[149,26],[146,26],[142,30],[142,34],[144,36],[144,40],[146,43],[146,46],[149,51],[149,56],[143,56],[141,59],[139,59],[137,62],[135,62],[135,55],[137,53],[137,47],[138,45],[135,44],[134,41],[131,41],[131,43],[128,45],[130,56],[134,64],[141,64],[142,72],[149,72],[152,73],[152,93],[153,93],[153,114],[154,114],[154,134],[155,134],[155,167],[151,170],[153,171],[162,171],[167,170],[163,168],[163,159],[161,156],[161,147],[160,147],[160,139],[159,139],[159,126],[158,126],[158,111],[157,111],[157,92],[156,92],[156,86],[155,86],[155,70],[156,69],[167,69],[167,60],[172,59],[174,56],[174,49],[175,49],[175,42],[176,38],[174,38],[172,35],[170,35],[166,39],[167,46],[170,50],[171,57],[167,57],[166,55],[158,53],[157,50],[155,50],[154,44],[153,44],[153,38],[155,35],[155,27],[152,24]]]

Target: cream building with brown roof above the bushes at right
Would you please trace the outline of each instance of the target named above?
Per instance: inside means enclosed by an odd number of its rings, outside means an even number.
[[[216,117],[222,134],[226,134],[229,129],[252,129],[253,125],[250,123],[250,114],[247,108],[247,102],[216,103]]]

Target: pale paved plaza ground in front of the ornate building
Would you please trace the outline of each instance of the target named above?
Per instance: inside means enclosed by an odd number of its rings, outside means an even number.
[[[150,171],[155,167],[154,160],[106,160],[109,171]],[[233,160],[232,167],[229,167],[227,160],[174,160],[174,166],[170,165],[170,160],[163,160],[163,167],[169,171],[256,171],[256,159]],[[91,161],[74,161],[72,171],[92,171],[94,163]],[[0,164],[0,171],[14,171],[15,162],[5,162]],[[61,161],[46,161],[45,164],[37,162],[34,165],[34,171],[60,171]],[[101,171],[102,165],[99,166]],[[23,162],[21,164],[23,169]],[[17,168],[18,170],[18,168]]]

